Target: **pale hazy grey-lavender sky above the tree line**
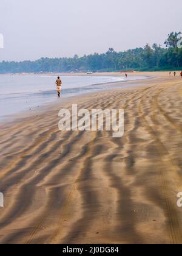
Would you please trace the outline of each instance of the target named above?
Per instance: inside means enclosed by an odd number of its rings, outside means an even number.
[[[1,0],[2,60],[72,57],[163,43],[181,0]]]

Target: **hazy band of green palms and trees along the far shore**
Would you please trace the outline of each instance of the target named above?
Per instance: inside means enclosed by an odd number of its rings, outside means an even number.
[[[178,48],[181,32],[172,32],[164,42],[166,48],[154,43],[151,47],[115,52],[110,48],[105,54],[90,54],[73,58],[42,58],[34,62],[1,62],[0,73],[48,73],[79,71],[160,71],[182,69],[182,48]]]

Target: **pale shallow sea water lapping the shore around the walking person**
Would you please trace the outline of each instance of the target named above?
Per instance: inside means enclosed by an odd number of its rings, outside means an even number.
[[[144,77],[143,77],[144,78]],[[98,84],[124,82],[124,77],[109,76],[63,76],[62,97],[75,96],[89,91],[101,90]],[[131,79],[141,79],[132,77]],[[9,115],[41,107],[58,101],[56,77],[53,76],[0,76],[0,120]]]

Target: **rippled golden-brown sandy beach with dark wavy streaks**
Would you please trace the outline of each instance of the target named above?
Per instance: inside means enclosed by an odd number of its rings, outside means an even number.
[[[182,243],[182,79],[137,75],[0,125],[0,243]],[[72,104],[124,108],[124,136],[61,132]]]

